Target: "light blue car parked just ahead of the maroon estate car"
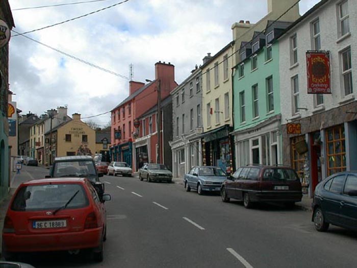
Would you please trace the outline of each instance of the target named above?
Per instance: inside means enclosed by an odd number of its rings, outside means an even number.
[[[191,189],[197,191],[199,195],[207,192],[219,192],[222,182],[227,178],[227,174],[218,167],[193,167],[184,176],[184,186],[187,192]]]

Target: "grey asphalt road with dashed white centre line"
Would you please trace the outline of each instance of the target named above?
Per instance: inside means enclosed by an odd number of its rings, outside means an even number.
[[[32,177],[48,174],[25,167]],[[24,173],[25,174],[25,173]],[[106,203],[105,259],[86,252],[22,256],[35,267],[354,267],[356,233],[315,231],[311,213],[265,204],[245,209],[219,195],[187,193],[181,184],[101,178]]]

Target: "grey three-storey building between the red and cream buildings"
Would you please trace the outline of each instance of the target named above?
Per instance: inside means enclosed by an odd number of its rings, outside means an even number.
[[[202,163],[202,75],[196,66],[172,95],[172,173],[183,177]]]

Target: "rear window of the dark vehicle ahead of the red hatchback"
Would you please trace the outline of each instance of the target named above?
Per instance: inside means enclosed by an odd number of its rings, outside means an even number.
[[[95,167],[92,161],[57,162],[54,170],[54,177],[85,177],[95,175]]]

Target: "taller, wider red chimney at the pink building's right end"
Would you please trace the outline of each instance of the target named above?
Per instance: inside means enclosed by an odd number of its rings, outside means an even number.
[[[164,99],[177,86],[175,82],[175,66],[161,61],[155,63],[155,79],[160,79],[161,81],[161,98]]]

